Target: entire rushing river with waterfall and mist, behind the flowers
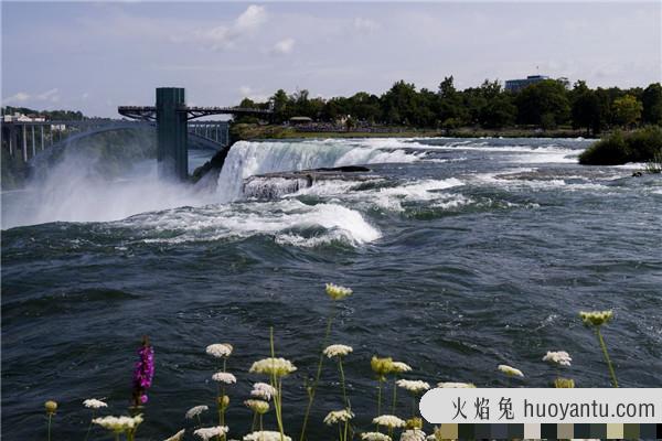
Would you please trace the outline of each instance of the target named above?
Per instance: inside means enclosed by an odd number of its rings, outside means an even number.
[[[158,182],[151,163],[100,180],[71,154],[44,180],[3,194],[3,434],[42,437],[46,399],[61,406],[57,439],[83,437],[85,398],[126,411],[135,348],[149,334],[157,374],[142,435],[166,438],[192,426],[190,407],[213,408],[215,364],[204,347],[231,342],[238,383],[228,420],[239,438],[252,418],[241,402],[259,379],[247,369],[268,356],[274,325],[278,355],[299,367],[285,381],[286,431],[297,435],[330,310],[327,281],[354,289],[331,340],[354,347],[346,375],[360,428],[375,412],[374,354],[431,384],[503,385],[495,367],[505,363],[524,372],[517,386],[544,387],[556,372],[541,358],[565,349],[574,358],[565,376],[608,386],[595,336],[577,318],[587,309],[615,310],[605,337],[621,385],[660,387],[662,180],[630,178],[632,166],[580,166],[587,146],[239,142],[217,182],[191,187]],[[280,196],[243,193],[256,173],[348,164],[370,164],[374,179],[295,193],[263,180],[253,185]],[[311,433],[332,437],[321,419],[341,406],[327,363]],[[398,406],[408,416],[409,400]],[[266,421],[275,428],[273,415]]]

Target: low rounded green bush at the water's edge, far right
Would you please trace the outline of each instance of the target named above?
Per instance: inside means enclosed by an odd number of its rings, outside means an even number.
[[[649,126],[631,132],[615,131],[579,155],[586,165],[617,165],[653,161],[662,154],[662,128]]]

